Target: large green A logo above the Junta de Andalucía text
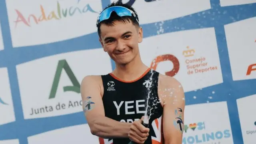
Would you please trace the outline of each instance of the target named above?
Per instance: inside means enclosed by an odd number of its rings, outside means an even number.
[[[64,86],[63,87],[64,92],[72,91],[72,92],[80,93],[80,84],[79,84],[78,80],[76,79],[76,76],[72,72],[70,66],[68,65],[67,61],[66,60],[60,60],[58,62],[58,66],[57,66],[56,73],[55,73],[55,76],[54,76],[54,80],[53,80],[53,83],[52,83],[52,90],[50,92],[49,99],[55,98],[56,91],[57,91],[57,88],[58,88],[58,84],[60,82],[60,76],[61,76],[62,69],[64,69],[66,71],[66,74],[68,75],[68,78],[71,80],[71,82],[73,84],[73,86]]]

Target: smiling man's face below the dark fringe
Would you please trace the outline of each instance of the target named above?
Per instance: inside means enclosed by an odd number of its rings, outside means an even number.
[[[142,28],[132,22],[114,21],[113,26],[100,26],[100,42],[105,52],[108,52],[118,64],[127,64],[137,56],[138,43],[142,42]]]

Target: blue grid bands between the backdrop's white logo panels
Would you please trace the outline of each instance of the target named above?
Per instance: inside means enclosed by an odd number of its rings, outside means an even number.
[[[109,3],[110,0],[102,0],[102,7],[105,7]],[[214,27],[220,56],[223,83],[203,88],[202,90],[186,92],[186,105],[201,104],[205,103],[207,100],[209,102],[226,101],[228,105],[234,144],[243,144],[236,99],[256,94],[256,80],[232,80],[224,25],[255,17],[256,3],[221,7],[219,0],[210,0],[210,4],[210,10],[202,11],[205,12],[204,18],[203,15],[200,15],[202,12],[198,12],[192,14],[191,16],[165,20],[163,24],[164,33],[181,31],[181,29],[178,30],[174,28],[175,26],[180,26],[181,24],[182,27],[184,27],[182,30]],[[226,11],[226,14],[223,14],[224,11]],[[214,18],[214,20],[212,20],[212,18]],[[188,21],[192,23],[188,23]],[[97,33],[94,32],[78,38],[50,44],[13,48],[5,0],[0,0],[0,22],[4,42],[4,50],[0,51],[0,68],[8,68],[16,118],[15,122],[0,126],[0,140],[19,139],[20,144],[28,144],[28,136],[58,128],[86,123],[83,112],[49,118],[24,120],[16,65],[55,54],[100,48],[101,46],[99,42],[93,42],[98,40]],[[157,28],[155,23],[143,24],[142,28],[144,29],[144,38],[156,35]],[[114,62],[112,62],[112,69],[114,69]],[[219,96],[218,98],[209,100],[208,94],[214,90],[218,90]],[[200,98],[194,99],[194,95],[200,96]],[[0,117],[3,118],[4,116]],[[73,119],[74,117],[76,118]],[[44,126],[46,124],[47,126]]]

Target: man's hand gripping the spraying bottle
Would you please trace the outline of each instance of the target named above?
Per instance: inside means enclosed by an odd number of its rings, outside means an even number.
[[[130,127],[130,131],[128,134],[130,140],[138,144],[144,144],[149,135],[149,128],[146,128],[142,125],[143,119],[144,116],[142,116],[140,120],[134,121]]]

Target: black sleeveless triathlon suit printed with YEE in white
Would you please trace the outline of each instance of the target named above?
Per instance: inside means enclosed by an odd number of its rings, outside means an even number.
[[[148,91],[150,112],[149,136],[144,144],[163,144],[163,107],[158,98],[158,76],[155,70],[148,69],[138,80],[124,82],[113,74],[102,75],[104,94],[102,97],[105,116],[119,122],[133,122],[144,116]],[[150,79],[152,78],[152,79]],[[148,88],[149,87],[149,90]],[[103,139],[100,144],[128,144],[129,138]]]

